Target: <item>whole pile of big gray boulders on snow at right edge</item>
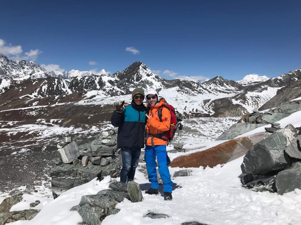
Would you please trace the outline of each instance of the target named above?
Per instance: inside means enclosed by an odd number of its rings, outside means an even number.
[[[301,189],[301,128],[298,131],[292,124],[274,128],[277,130],[246,153],[239,177],[253,191],[282,195]]]

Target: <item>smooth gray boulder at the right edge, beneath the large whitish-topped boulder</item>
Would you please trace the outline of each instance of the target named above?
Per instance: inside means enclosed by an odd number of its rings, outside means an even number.
[[[301,162],[293,163],[289,168],[280,171],[276,176],[275,185],[277,193],[281,195],[295,188],[301,189]]]

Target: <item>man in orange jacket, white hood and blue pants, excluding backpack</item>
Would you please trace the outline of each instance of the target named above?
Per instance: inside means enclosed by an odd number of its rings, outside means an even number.
[[[146,133],[145,133],[145,162],[148,173],[148,180],[151,183],[150,189],[145,193],[158,194],[159,183],[156,170],[156,158],[159,165],[158,171],[163,181],[164,200],[172,200],[172,181],[169,175],[168,165],[170,159],[167,156],[166,144],[167,140],[162,139],[162,134],[170,128],[171,115],[164,99],[158,99],[155,89],[150,89],[145,95],[145,100],[150,108],[147,117]],[[158,117],[158,110],[162,108],[162,122]]]

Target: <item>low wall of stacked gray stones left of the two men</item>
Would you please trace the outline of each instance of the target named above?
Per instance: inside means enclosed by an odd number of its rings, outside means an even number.
[[[82,185],[98,177],[117,178],[122,167],[117,148],[118,128],[102,132],[100,138],[77,146],[71,137],[57,144],[57,154],[50,173],[54,198],[72,187]]]

